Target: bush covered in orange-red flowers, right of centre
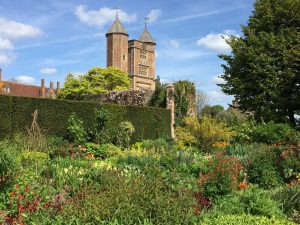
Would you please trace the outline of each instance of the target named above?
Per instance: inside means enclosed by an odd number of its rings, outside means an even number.
[[[242,165],[236,157],[217,152],[209,158],[207,171],[200,174],[200,191],[205,197],[229,194],[238,189],[241,171]]]

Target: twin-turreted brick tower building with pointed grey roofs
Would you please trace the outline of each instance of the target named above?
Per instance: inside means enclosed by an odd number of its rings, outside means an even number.
[[[116,16],[106,33],[107,67],[115,66],[131,78],[133,90],[155,89],[155,48],[147,24],[138,40],[128,40],[128,33]]]

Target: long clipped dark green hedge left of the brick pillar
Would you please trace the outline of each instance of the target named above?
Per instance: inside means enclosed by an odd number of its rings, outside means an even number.
[[[167,109],[0,95],[0,139],[25,132],[36,109],[38,123],[46,134],[65,136],[72,112],[80,116],[85,127],[89,128],[94,124],[96,108],[109,110],[110,127],[122,121],[132,122],[135,127],[133,141],[169,137],[171,134],[171,115]]]

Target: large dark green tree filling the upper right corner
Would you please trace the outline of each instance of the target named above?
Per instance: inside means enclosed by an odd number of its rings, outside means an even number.
[[[242,37],[227,40],[231,55],[220,55],[226,81],[240,109],[257,119],[288,117],[300,109],[300,0],[257,0]]]

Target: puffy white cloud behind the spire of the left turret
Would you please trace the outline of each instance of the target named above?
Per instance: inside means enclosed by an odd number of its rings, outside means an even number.
[[[81,22],[89,26],[103,28],[104,25],[115,20],[116,10],[107,7],[102,7],[98,10],[88,10],[87,6],[79,5],[75,10],[75,15]],[[120,20],[124,23],[132,23],[136,21],[135,14],[127,14],[123,10],[119,10],[118,15]]]

